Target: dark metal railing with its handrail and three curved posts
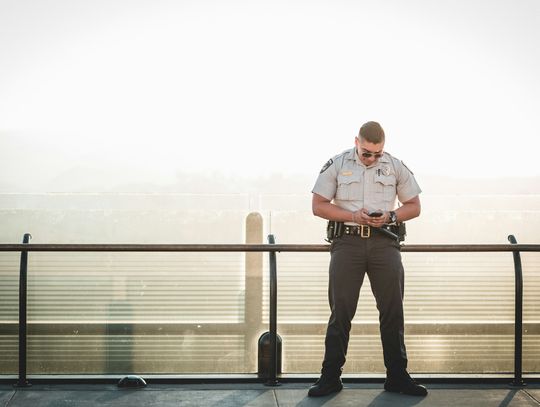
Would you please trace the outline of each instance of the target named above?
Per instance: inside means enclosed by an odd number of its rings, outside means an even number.
[[[277,261],[278,252],[327,252],[328,244],[276,244],[273,235],[268,244],[29,244],[31,235],[25,234],[22,244],[0,244],[0,252],[20,252],[19,276],[19,371],[16,386],[29,386],[27,379],[27,272],[28,252],[268,252],[270,262],[270,347],[271,361],[265,384],[279,384],[277,377]],[[540,252],[540,244],[517,244],[513,235],[511,244],[436,244],[402,245],[402,252],[512,252],[515,276],[515,330],[513,386],[523,386],[523,271],[521,252]]]

